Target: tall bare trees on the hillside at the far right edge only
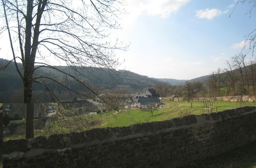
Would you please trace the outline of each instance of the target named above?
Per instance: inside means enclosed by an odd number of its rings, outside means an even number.
[[[243,96],[255,94],[255,60],[239,54],[226,61],[226,68],[210,74],[207,85],[211,96]]]

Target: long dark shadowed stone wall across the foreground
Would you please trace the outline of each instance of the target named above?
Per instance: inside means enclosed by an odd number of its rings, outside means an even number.
[[[4,167],[176,167],[256,139],[256,107],[4,142]]]

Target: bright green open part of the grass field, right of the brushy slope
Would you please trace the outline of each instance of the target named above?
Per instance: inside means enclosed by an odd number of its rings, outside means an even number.
[[[115,115],[113,112],[104,115],[96,115],[95,118],[103,121],[104,123],[99,127],[117,127],[128,126],[135,123],[169,120],[186,115],[200,115],[203,113],[203,102],[192,101],[188,103],[185,101],[169,101],[168,99],[162,99],[161,101],[164,103],[163,108],[156,110],[153,115],[147,113],[146,111],[132,109],[122,110]],[[237,102],[225,101],[212,102],[212,105],[215,107],[212,109],[212,112],[240,107],[240,104]],[[255,106],[256,103],[246,102],[244,105]],[[204,113],[207,113],[207,111]]]

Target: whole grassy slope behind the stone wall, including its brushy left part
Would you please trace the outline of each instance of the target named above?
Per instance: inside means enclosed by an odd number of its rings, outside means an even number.
[[[164,103],[163,107],[161,109],[155,110],[153,115],[151,115],[147,111],[132,109],[121,110],[118,113],[117,111],[109,111],[106,113],[90,116],[53,118],[48,119],[45,127],[41,128],[40,130],[36,129],[34,133],[35,136],[42,136],[54,133],[83,131],[92,128],[121,127],[137,123],[164,121],[187,115],[200,115],[203,113],[203,102],[191,101],[188,103],[185,101],[170,101],[169,99],[162,99],[161,102]],[[216,101],[212,102],[211,105],[215,107],[212,108],[212,112],[240,107],[240,103],[227,101]],[[244,105],[256,106],[256,103],[246,102],[245,104],[243,104],[243,106]],[[204,113],[207,113],[207,111],[205,111]],[[90,125],[88,121],[93,121],[94,124]],[[24,122],[25,120],[16,120],[11,121],[10,124],[22,125],[22,123]],[[24,138],[24,129],[25,125],[23,124],[22,126],[20,126],[19,129],[17,129],[16,134],[4,134],[4,141],[8,141],[10,139]]]

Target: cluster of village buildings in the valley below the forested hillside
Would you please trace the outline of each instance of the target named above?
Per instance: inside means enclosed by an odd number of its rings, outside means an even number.
[[[100,94],[95,99],[62,101],[61,105],[66,108],[76,108],[79,114],[99,113],[106,110],[121,109],[147,109],[161,108],[163,103],[160,101],[159,94],[155,89],[133,94]],[[12,120],[25,119],[26,105],[24,103],[4,103],[2,105],[5,115]],[[57,104],[54,103],[34,103],[34,118],[49,118],[57,114]]]

